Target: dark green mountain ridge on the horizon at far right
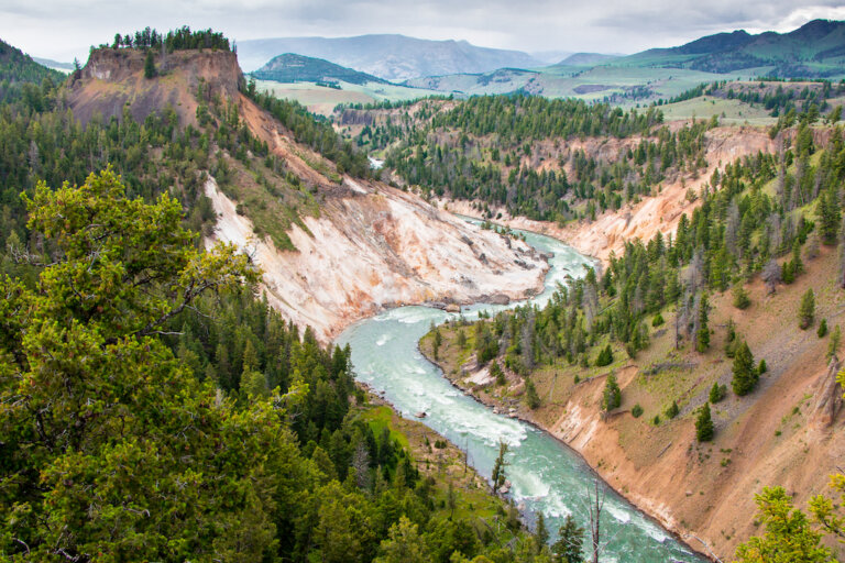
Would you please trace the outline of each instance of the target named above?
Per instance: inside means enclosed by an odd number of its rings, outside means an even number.
[[[845,22],[813,20],[789,33],[717,33],[679,47],[645,51],[619,63],[718,74],[754,69],[780,78],[841,77],[845,75]]]

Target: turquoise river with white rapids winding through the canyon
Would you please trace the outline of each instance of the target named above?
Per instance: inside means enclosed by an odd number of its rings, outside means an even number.
[[[555,292],[558,283],[569,276],[583,276],[584,266],[593,264],[566,244],[530,232],[520,232],[538,251],[551,253],[551,268],[545,290],[533,298],[540,307]],[[509,306],[514,307],[514,305]],[[478,311],[490,312],[507,306],[473,305],[463,307],[468,319]],[[509,444],[506,474],[512,483],[511,496],[525,506],[524,514],[534,518],[542,511],[547,527],[557,530],[571,514],[589,530],[586,493],[596,479],[589,465],[566,444],[533,426],[495,415],[492,409],[463,395],[443,377],[442,372],[419,352],[417,344],[430,324],[457,318],[429,307],[399,307],[360,321],[347,329],[337,343],[352,346],[355,378],[376,393],[383,393],[405,417],[425,411],[422,422],[468,452],[470,465],[490,478],[498,453],[498,441]],[[704,562],[656,521],[602,483],[606,494],[602,514],[601,561],[606,563]],[[589,538],[585,538],[586,549]]]

